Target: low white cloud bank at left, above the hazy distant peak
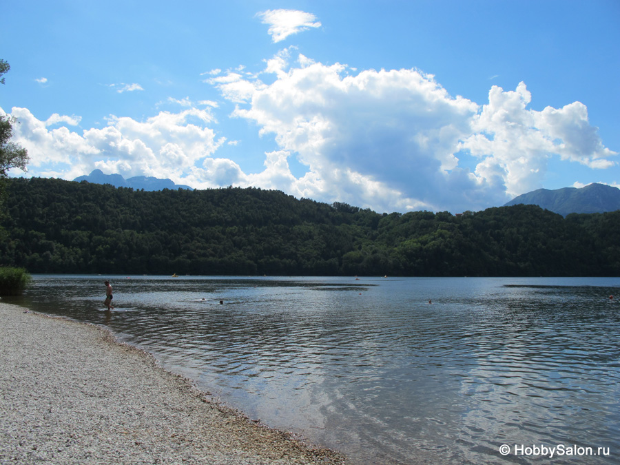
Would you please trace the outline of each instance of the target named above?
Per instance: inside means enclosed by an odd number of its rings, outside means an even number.
[[[100,168],[125,177],[145,174],[178,181],[225,143],[208,127],[213,121],[210,112],[196,108],[160,112],[146,121],[112,116],[106,127],[82,134],[64,126],[48,128],[50,123],[79,121],[76,116],[54,114],[39,121],[18,107],[12,115],[20,122],[16,141],[28,149],[32,176],[73,179]]]

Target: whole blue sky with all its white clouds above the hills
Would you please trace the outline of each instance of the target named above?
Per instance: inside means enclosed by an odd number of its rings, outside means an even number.
[[[28,172],[378,212],[620,186],[618,0],[0,0]]]

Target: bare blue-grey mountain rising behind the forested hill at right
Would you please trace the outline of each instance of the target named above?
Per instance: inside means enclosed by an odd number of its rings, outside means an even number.
[[[571,213],[603,213],[620,210],[620,189],[597,183],[581,189],[537,189],[513,198],[504,207],[519,203],[538,205],[562,216]]]

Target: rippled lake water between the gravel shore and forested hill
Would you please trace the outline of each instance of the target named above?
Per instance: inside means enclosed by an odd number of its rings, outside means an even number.
[[[3,302],[104,325],[353,463],[598,464],[620,462],[619,300],[620,278],[34,276]]]

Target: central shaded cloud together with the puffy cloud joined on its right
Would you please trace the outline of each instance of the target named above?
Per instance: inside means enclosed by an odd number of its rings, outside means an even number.
[[[269,85],[233,72],[211,83],[238,103],[233,116],[254,121],[307,165],[303,178],[282,178],[295,195],[388,211],[481,209],[541,187],[551,156],[614,165],[585,106],[529,110],[524,83],[493,86],[480,107],[418,70],[351,76],[302,55],[292,67],[290,52],[267,61],[276,78]],[[473,172],[459,159],[468,155],[478,159]]]

